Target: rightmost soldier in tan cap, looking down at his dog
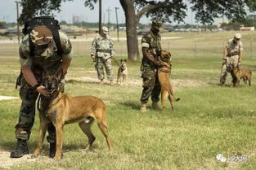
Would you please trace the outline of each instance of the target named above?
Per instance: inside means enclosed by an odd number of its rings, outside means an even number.
[[[243,44],[240,41],[241,34],[236,33],[234,38],[231,38],[227,42],[227,46],[223,52],[222,59],[222,73],[220,78],[220,85],[224,85],[227,77],[227,72],[231,73],[232,82],[236,81],[236,77],[233,75],[235,68],[240,68],[243,54]]]

